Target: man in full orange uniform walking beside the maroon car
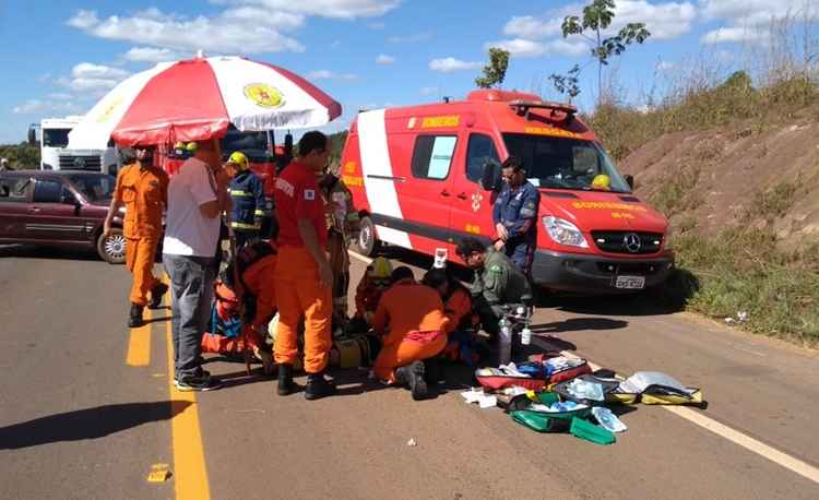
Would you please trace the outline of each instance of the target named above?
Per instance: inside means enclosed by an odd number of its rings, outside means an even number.
[[[168,175],[153,165],[153,147],[138,146],[135,151],[136,163],[127,165],[117,176],[117,188],[103,229],[105,234],[110,233],[114,215],[124,206],[126,264],[133,274],[129,328],[142,326],[145,306],[158,308],[168,290],[153,273],[156,246],[163,233],[162,214],[168,204]]]

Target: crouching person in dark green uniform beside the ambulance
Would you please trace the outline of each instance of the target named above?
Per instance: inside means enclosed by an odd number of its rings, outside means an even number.
[[[464,238],[456,252],[475,273],[470,285],[473,310],[480,318],[484,331],[496,337],[505,305],[531,305],[529,279],[506,254],[487,249],[476,238]]]

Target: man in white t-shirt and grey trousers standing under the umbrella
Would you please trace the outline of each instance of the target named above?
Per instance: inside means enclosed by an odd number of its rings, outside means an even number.
[[[200,343],[211,317],[219,214],[230,209],[214,141],[199,143],[168,183],[163,263],[173,294],[174,380],[180,391],[210,391],[221,383],[200,365]]]

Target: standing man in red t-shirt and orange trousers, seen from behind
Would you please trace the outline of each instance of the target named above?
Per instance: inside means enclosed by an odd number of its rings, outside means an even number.
[[[305,397],[318,400],[335,393],[324,378],[330,358],[333,314],[333,270],[327,249],[324,203],[316,176],[328,163],[328,139],[307,132],[298,142],[298,156],[282,170],[274,191],[278,215],[278,264],[275,291],[278,324],[274,345],[278,364],[278,394],[296,390],[293,364],[298,356],[296,335],[305,320]]]

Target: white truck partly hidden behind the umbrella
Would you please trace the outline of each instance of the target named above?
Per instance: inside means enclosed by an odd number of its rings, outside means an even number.
[[[40,121],[40,169],[102,171],[116,176],[121,166],[114,142],[105,150],[71,150],[69,132],[82,117],[45,118]],[[28,130],[28,142],[36,142],[34,128]]]

